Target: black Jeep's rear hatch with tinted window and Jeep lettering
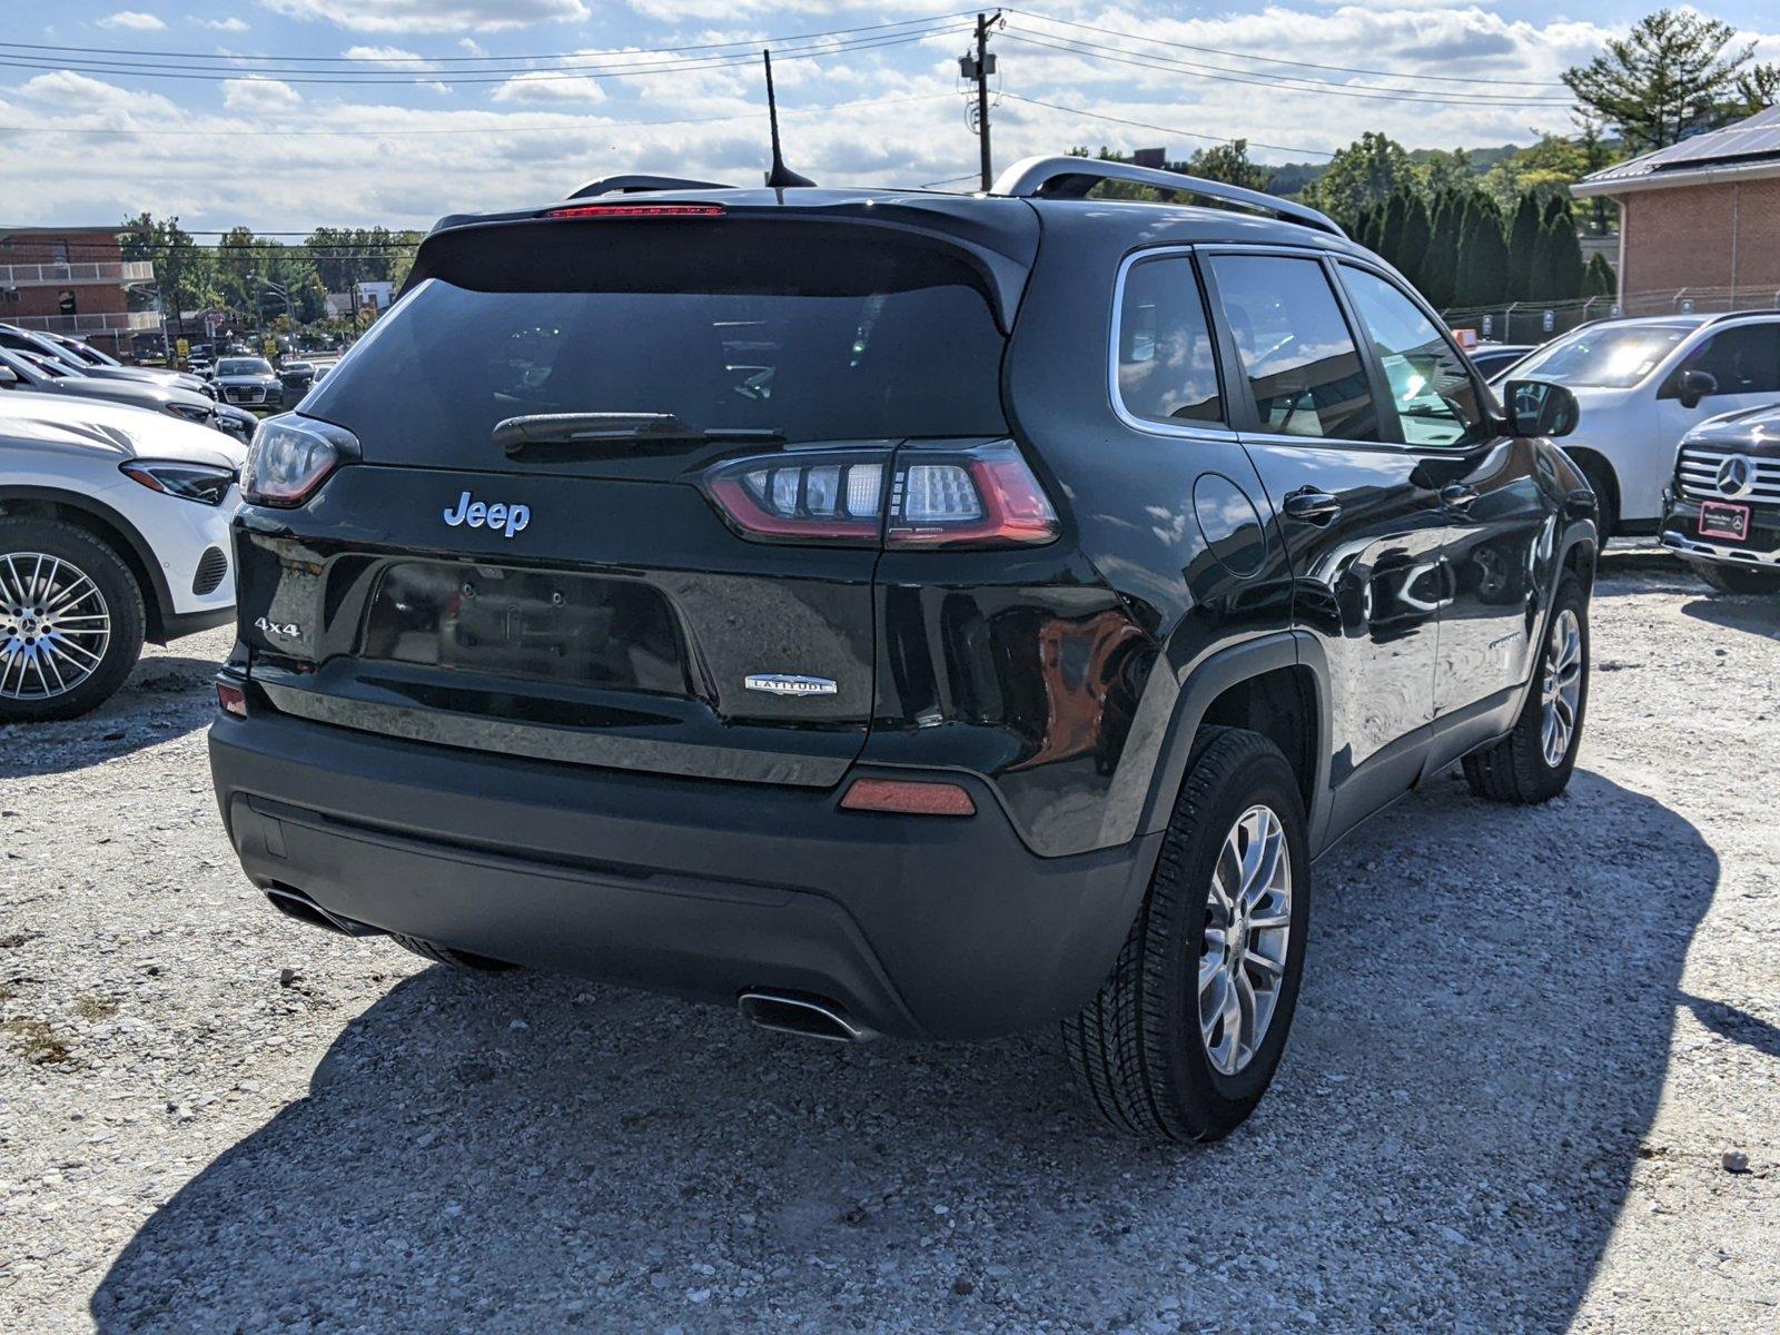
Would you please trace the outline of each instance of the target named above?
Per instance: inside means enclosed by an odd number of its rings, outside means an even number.
[[[1006,258],[790,217],[468,231],[303,404],[360,457],[246,511],[255,684],[447,746],[837,781],[872,705],[849,516],[901,441],[1006,434]]]

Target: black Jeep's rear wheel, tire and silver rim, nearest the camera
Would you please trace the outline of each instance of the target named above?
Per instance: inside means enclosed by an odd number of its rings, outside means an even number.
[[[1308,926],[1298,776],[1260,733],[1203,730],[1118,961],[1063,1024],[1088,1100],[1152,1139],[1235,1130],[1285,1050]]]

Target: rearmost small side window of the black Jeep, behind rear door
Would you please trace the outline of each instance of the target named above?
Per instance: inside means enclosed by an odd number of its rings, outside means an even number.
[[[1118,395],[1150,422],[1223,422],[1218,360],[1193,260],[1159,255],[1125,271]]]

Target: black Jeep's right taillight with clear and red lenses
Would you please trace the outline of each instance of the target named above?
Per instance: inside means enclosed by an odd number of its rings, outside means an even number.
[[[705,495],[744,536],[831,546],[1025,546],[1057,513],[1011,440],[762,454],[707,470]]]

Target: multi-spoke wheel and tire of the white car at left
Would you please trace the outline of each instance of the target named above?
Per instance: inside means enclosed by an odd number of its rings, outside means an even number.
[[[146,625],[141,584],[103,541],[64,520],[0,518],[0,723],[98,708]]]

